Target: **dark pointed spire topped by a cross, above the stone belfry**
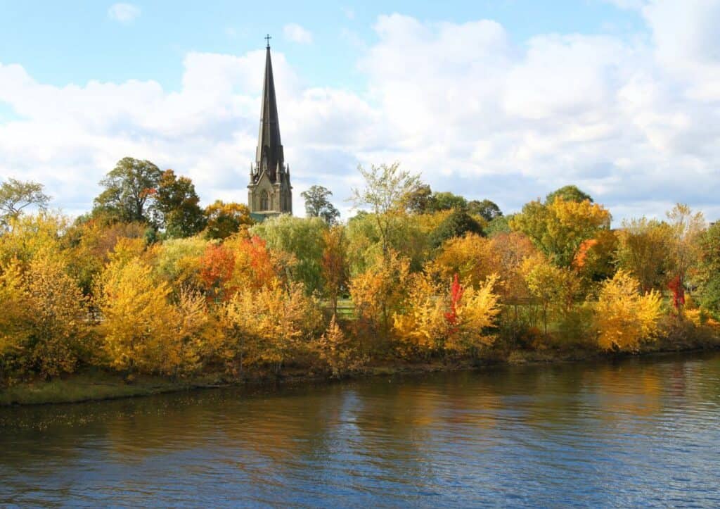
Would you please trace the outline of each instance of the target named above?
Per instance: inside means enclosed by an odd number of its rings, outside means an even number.
[[[256,164],[258,172],[266,169],[271,180],[276,180],[276,169],[284,166],[282,141],[280,140],[280,123],[277,118],[277,101],[275,98],[275,82],[272,76],[270,59],[270,36],[266,37],[265,80],[263,84],[263,102],[260,110],[260,132]]]

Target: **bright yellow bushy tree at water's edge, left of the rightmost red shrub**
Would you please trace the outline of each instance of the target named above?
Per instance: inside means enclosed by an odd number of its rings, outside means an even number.
[[[598,343],[605,350],[637,350],[651,340],[660,318],[660,293],[642,295],[639,282],[624,270],[607,280],[595,306]]]

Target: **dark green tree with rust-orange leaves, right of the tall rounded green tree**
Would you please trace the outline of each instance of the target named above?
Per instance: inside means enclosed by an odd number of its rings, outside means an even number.
[[[160,177],[153,206],[157,222],[165,226],[170,237],[186,237],[199,233],[207,222],[195,185],[188,177],[176,177],[167,169]]]

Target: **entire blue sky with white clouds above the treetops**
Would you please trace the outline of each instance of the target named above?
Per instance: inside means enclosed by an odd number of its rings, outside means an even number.
[[[257,4],[0,0],[0,179],[77,214],[133,156],[244,202],[269,32],[297,213],[400,161],[505,212],[720,218],[720,0]]]

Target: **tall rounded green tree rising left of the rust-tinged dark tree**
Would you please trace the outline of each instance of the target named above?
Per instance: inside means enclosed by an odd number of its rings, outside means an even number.
[[[150,161],[124,157],[103,180],[105,190],[94,201],[94,212],[117,221],[150,223],[148,200],[158,189],[162,172]]]

